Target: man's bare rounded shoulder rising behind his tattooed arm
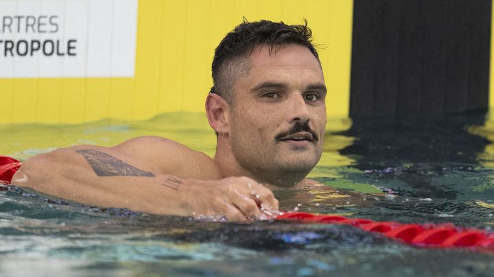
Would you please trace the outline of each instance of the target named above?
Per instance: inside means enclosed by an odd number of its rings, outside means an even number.
[[[135,137],[113,148],[145,161],[159,173],[204,180],[222,178],[211,157],[165,137]]]

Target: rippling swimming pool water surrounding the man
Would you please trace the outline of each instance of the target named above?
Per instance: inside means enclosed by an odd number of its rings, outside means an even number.
[[[143,122],[0,126],[0,153],[160,135],[213,155],[202,114]],[[281,209],[494,230],[494,120],[483,114],[329,120],[309,176],[333,189],[275,194]],[[386,194],[374,195],[377,192]],[[1,276],[494,276],[494,255],[406,246],[351,226],[201,222],[0,192]]]

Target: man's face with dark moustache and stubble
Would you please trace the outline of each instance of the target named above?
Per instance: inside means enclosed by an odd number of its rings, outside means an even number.
[[[250,70],[237,79],[231,105],[235,159],[258,176],[309,173],[320,159],[326,125],[325,81],[316,57],[288,44],[271,53],[258,47],[248,59]]]

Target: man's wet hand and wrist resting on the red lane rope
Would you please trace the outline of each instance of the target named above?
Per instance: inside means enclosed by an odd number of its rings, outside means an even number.
[[[279,214],[270,189],[248,177],[183,182],[169,177],[163,185],[175,189],[188,215],[230,221],[266,220]]]

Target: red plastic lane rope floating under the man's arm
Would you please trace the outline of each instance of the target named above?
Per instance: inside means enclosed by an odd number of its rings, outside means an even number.
[[[21,162],[0,156],[0,183],[10,184]],[[375,222],[363,218],[341,215],[317,215],[313,213],[283,213],[277,220],[299,220],[311,223],[344,224],[362,230],[381,233],[413,246],[435,248],[477,248],[494,253],[494,233],[473,228],[460,228],[447,224],[401,224],[399,222]]]

